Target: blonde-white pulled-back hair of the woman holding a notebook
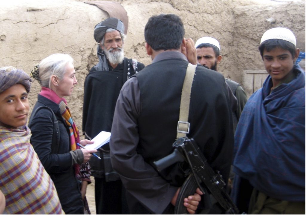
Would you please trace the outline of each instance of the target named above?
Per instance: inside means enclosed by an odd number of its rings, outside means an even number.
[[[51,76],[55,75],[62,80],[66,72],[66,65],[72,63],[69,54],[51,54],[39,63],[39,79],[42,87],[50,88]]]

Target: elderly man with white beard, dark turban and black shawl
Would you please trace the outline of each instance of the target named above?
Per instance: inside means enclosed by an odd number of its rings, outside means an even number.
[[[122,85],[144,68],[144,64],[124,57],[125,37],[124,24],[117,18],[108,18],[95,26],[99,63],[91,68],[84,83],[83,134],[88,139],[101,131],[110,132]],[[103,159],[91,159],[90,162],[95,177],[96,212],[125,214],[128,209],[123,187],[111,167],[109,153],[109,148],[99,149],[98,155]]]

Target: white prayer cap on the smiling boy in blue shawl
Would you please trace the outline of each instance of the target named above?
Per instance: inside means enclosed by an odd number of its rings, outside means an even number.
[[[260,44],[268,39],[282,39],[296,45],[297,40],[292,31],[288,28],[271,28],[261,37]]]

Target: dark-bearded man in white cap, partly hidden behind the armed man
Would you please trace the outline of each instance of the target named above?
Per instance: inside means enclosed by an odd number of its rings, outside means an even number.
[[[220,55],[220,44],[218,40],[212,37],[202,37],[198,39],[196,41],[196,53],[198,63],[206,66],[208,69],[218,71],[218,64],[222,60],[222,56]],[[242,109],[248,99],[239,83],[227,78],[225,78],[225,82],[230,87],[238,102],[237,109],[234,111],[235,114],[233,114],[233,124],[235,131]]]

